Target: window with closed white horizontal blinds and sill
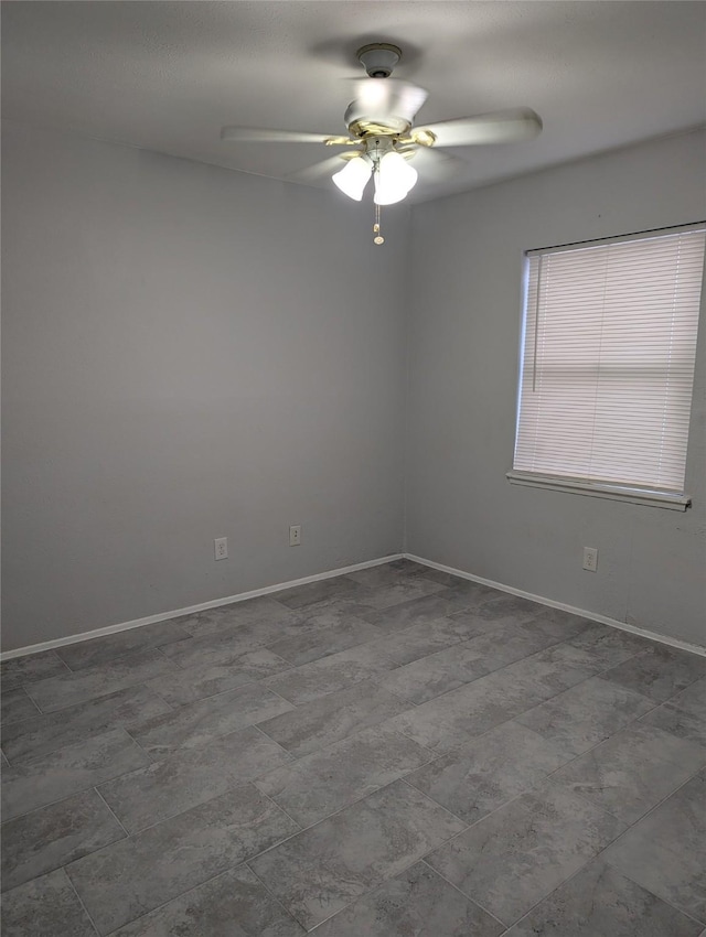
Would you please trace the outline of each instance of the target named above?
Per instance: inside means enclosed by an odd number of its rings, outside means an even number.
[[[515,484],[685,509],[706,227],[533,250]]]

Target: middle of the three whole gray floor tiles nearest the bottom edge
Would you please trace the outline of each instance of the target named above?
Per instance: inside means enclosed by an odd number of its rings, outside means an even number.
[[[311,929],[461,829],[460,820],[397,780],[249,864]]]

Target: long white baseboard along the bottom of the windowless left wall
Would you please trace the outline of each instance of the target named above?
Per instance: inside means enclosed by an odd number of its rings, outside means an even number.
[[[23,657],[25,654],[39,654],[41,650],[51,650],[53,647],[64,647],[67,644],[78,644],[82,640],[90,640],[94,637],[113,635],[117,632],[128,632],[131,628],[140,628],[143,625],[152,625],[156,622],[168,622],[170,618],[180,618],[182,615],[193,615],[196,612],[205,612],[208,608],[218,608],[221,605],[232,605],[234,602],[245,602],[246,599],[257,599],[258,595],[270,595],[272,592],[281,592],[295,585],[306,585],[308,582],[319,582],[322,579],[333,579],[336,575],[345,575],[347,572],[357,572],[371,567],[379,567],[383,563],[392,563],[394,560],[403,559],[402,553],[392,553],[377,560],[367,560],[364,563],[354,563],[351,567],[319,572],[315,575],[306,575],[302,579],[292,579],[289,582],[278,582],[275,585],[266,585],[264,589],[254,589],[250,592],[240,592],[238,595],[226,595],[224,599],[213,599],[211,602],[202,602],[200,605],[189,605],[185,608],[175,608],[172,612],[160,612],[157,615],[148,615],[145,618],[135,618],[131,622],[120,622],[117,625],[107,625],[105,628],[96,628],[92,632],[82,632],[76,635],[57,637],[53,640],[44,640],[41,644],[31,644],[28,647],[17,647],[14,650],[6,650],[0,654],[0,661],[11,660],[13,657]]]

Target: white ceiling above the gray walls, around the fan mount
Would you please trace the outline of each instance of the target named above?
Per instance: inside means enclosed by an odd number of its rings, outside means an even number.
[[[677,0],[11,0],[3,117],[286,179],[331,151],[224,143],[221,126],[344,132],[344,79],[375,41],[429,91],[417,126],[517,106],[544,120],[528,142],[454,148],[456,174],[420,171],[411,201],[706,122],[706,3]]]

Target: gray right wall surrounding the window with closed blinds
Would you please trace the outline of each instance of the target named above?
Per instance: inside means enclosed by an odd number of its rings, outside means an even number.
[[[699,220],[704,136],[665,139],[413,215],[407,549],[706,645],[706,323],[686,514],[511,486],[525,249]],[[581,569],[598,547],[597,573]]]

